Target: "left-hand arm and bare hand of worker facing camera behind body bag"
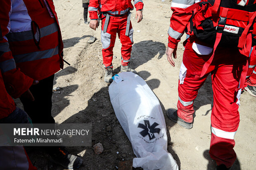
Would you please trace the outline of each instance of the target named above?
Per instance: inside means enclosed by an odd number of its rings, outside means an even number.
[[[99,11],[99,0],[90,0],[89,6],[88,6],[88,12],[90,16],[90,28],[93,30],[96,30],[98,28],[98,11]]]

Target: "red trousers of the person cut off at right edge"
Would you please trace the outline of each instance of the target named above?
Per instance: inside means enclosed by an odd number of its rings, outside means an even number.
[[[253,47],[249,59],[249,68],[247,72],[247,82],[245,83],[245,87],[256,86],[256,46]]]

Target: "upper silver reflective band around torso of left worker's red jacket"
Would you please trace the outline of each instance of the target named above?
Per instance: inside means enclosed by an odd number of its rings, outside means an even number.
[[[58,31],[58,25],[57,23],[52,23],[51,25],[40,29],[40,36],[44,37],[52,33],[55,33],[56,31]],[[31,30],[22,31],[22,32],[16,32],[16,33],[9,33],[6,35],[6,37],[9,42],[26,41],[26,40],[33,39],[33,33]]]

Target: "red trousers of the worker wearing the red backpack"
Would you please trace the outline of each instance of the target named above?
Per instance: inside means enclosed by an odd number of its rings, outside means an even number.
[[[213,88],[213,108],[211,112],[211,145],[210,156],[217,165],[224,164],[228,168],[235,162],[236,154],[234,135],[239,126],[238,104],[241,89],[239,80],[247,58],[238,49],[218,47],[211,65],[203,77],[204,63],[211,57],[212,48],[194,42],[190,38],[185,46],[183,63],[180,68],[178,117],[186,122],[193,121],[194,99],[199,88],[211,73]]]

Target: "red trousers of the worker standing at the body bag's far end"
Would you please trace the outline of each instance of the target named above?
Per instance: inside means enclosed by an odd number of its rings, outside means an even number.
[[[101,31],[101,42],[102,42],[102,56],[103,56],[103,64],[105,68],[111,67],[112,59],[113,59],[113,48],[116,41],[116,33],[118,33],[118,37],[121,41],[121,64],[123,66],[128,65],[130,62],[130,53],[132,51],[133,45],[133,28],[130,23],[129,36],[126,36],[126,24],[127,24],[127,15],[116,17],[110,16],[109,24],[107,27],[107,32],[103,33],[103,28],[105,24],[106,18],[102,19],[102,31]]]

